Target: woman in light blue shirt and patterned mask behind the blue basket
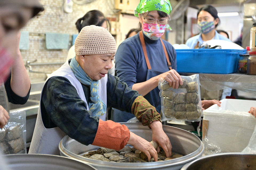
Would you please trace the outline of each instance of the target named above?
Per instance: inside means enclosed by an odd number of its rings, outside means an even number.
[[[198,48],[204,41],[212,39],[230,41],[215,30],[219,23],[218,12],[213,6],[207,5],[200,8],[197,12],[197,26],[200,33],[188,39],[186,45],[194,49]]]

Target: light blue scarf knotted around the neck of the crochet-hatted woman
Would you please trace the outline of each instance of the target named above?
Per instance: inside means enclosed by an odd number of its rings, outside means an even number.
[[[75,77],[83,84],[90,86],[91,101],[89,102],[89,109],[93,113],[92,116],[102,116],[106,113],[106,104],[99,98],[99,80],[91,79],[82,67],[78,64],[77,60],[71,59],[69,66],[73,71]]]

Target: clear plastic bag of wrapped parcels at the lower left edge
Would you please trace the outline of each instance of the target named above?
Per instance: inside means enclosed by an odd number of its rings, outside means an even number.
[[[0,152],[2,154],[25,154],[26,150],[26,112],[9,113],[9,120],[0,129]]]

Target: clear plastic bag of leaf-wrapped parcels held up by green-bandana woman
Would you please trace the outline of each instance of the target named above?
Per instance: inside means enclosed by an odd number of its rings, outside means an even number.
[[[166,120],[202,120],[199,75],[181,76],[183,84],[177,89],[169,86],[164,79],[158,82],[161,97],[162,121]]]

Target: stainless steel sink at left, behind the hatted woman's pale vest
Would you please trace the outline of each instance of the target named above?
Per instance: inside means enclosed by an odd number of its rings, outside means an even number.
[[[31,90],[27,103],[23,105],[9,103],[10,112],[15,110],[26,111],[26,147],[30,146],[30,142],[32,140],[33,132],[35,129],[35,122],[37,120],[41,91],[44,83],[45,82],[31,83]]]

